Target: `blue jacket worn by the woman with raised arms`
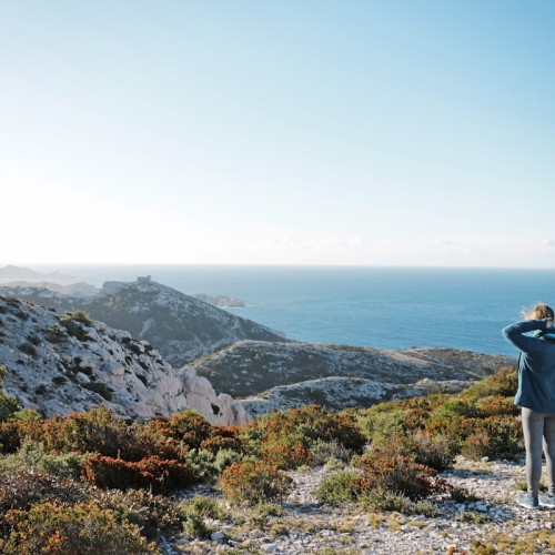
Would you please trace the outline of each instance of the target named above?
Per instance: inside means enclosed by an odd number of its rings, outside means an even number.
[[[505,327],[502,333],[522,351],[515,405],[555,414],[555,343],[542,336],[542,332],[552,335],[547,330],[555,332],[545,320],[527,320]],[[529,332],[536,335],[526,335]]]

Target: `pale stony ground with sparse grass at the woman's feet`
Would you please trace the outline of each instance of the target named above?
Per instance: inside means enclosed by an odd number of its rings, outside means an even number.
[[[212,541],[183,538],[176,553],[555,554],[555,509],[527,511],[514,503],[524,482],[522,464],[458,460],[442,477],[476,501],[437,501],[440,516],[433,517],[322,504],[313,492],[330,472],[291,473],[295,487],[282,504],[283,515],[261,526],[212,522],[218,528]],[[490,551],[478,551],[478,543]]]

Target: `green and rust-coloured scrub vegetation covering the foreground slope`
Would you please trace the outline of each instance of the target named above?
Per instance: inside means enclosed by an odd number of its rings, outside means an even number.
[[[264,528],[283,512],[290,471],[324,464],[335,470],[316,491],[323,503],[433,516],[465,495],[438,475],[456,455],[521,455],[515,387],[506,367],[457,395],[310,405],[243,426],[192,411],[129,422],[103,406],[43,418],[0,393],[0,552],[158,553],[162,541],[210,537],[214,519]],[[198,484],[214,495],[191,498]]]

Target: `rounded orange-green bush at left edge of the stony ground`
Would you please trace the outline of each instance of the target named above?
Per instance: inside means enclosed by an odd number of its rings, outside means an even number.
[[[284,497],[292,478],[276,466],[262,462],[234,463],[220,477],[220,488],[232,502],[255,505],[259,502]]]

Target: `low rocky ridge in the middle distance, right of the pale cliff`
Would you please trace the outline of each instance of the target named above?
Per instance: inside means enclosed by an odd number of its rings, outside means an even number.
[[[243,341],[185,366],[216,391],[243,397],[248,413],[317,403],[369,406],[431,392],[455,393],[514,365],[508,356],[450,349],[371,347]]]

